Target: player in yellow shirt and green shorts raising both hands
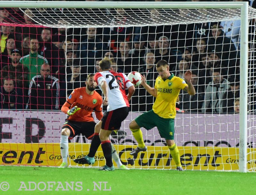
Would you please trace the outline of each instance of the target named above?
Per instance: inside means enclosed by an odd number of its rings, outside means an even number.
[[[142,138],[140,127],[152,129],[157,127],[159,134],[166,140],[167,146],[170,150],[173,160],[176,163],[176,169],[183,171],[180,163],[180,153],[174,143],[174,118],[176,116],[175,103],[180,93],[180,89],[188,92],[189,95],[195,95],[195,88],[191,83],[192,72],[187,71],[184,79],[174,76],[169,72],[169,65],[165,60],[160,60],[156,64],[156,70],[159,77],[156,78],[155,87],[150,87],[145,82],[143,75],[141,85],[147,92],[154,97],[152,110],[143,113],[135,118],[129,125],[132,135],[138,142],[138,147],[132,150],[131,155],[137,155],[140,151],[146,151],[147,147]]]

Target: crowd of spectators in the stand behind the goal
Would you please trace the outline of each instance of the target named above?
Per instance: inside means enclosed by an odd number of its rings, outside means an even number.
[[[0,109],[60,110],[73,89],[85,86],[87,75],[99,71],[100,60],[107,57],[114,71],[125,74],[139,71],[152,87],[158,76],[156,63],[161,59],[169,63],[171,73],[182,79],[191,70],[196,94],[181,91],[176,103],[178,111],[235,113],[234,102],[239,98],[240,86],[240,20],[142,27],[46,28],[36,25],[34,13],[60,16],[57,23],[61,25],[76,17],[77,10],[23,11],[0,8]],[[63,13],[69,18],[62,16]],[[101,15],[95,13],[96,10],[84,9],[85,18],[105,17],[113,24],[122,25],[132,17],[124,9],[102,9]],[[148,14],[156,20],[159,11],[150,10]],[[253,68],[254,61],[248,63]],[[250,86],[254,91],[253,84]],[[148,111],[153,102],[154,98],[139,86],[130,108]]]

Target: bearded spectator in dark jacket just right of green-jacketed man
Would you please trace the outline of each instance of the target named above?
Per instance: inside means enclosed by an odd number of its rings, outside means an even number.
[[[55,74],[60,69],[60,53],[59,48],[52,43],[52,29],[44,28],[41,32],[41,40],[40,55],[47,59],[47,64],[51,66],[51,71]]]

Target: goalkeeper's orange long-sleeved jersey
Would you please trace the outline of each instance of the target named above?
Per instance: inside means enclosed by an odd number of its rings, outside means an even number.
[[[68,100],[65,104],[69,109],[77,106],[81,108],[74,115],[70,115],[68,120],[79,121],[79,122],[91,122],[94,121],[92,112],[94,111],[96,117],[100,120],[103,117],[102,114],[102,97],[96,91],[94,94],[89,95],[86,93],[86,87],[80,87],[74,89],[69,95]],[[65,106],[65,104],[63,106]],[[62,109],[61,109],[62,110]]]

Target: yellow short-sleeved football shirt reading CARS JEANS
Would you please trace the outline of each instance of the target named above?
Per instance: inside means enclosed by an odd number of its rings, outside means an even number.
[[[155,83],[157,96],[153,111],[162,118],[175,118],[177,97],[180,94],[180,89],[184,89],[186,86],[188,84],[183,79],[173,74],[167,79],[157,77]]]

